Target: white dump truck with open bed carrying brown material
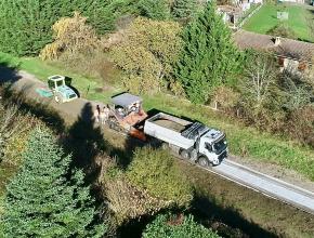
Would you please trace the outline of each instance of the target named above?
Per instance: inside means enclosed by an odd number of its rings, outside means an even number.
[[[201,167],[218,166],[227,157],[225,134],[200,122],[159,113],[146,119],[144,133]]]

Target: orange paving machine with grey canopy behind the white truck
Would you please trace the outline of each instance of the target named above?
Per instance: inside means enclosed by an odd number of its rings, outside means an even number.
[[[108,118],[109,128],[146,141],[143,122],[147,114],[142,107],[143,100],[130,93],[122,93],[112,97],[113,106]]]

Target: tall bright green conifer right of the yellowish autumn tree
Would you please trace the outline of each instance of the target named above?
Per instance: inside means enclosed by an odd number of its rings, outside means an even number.
[[[184,29],[183,50],[175,76],[194,103],[206,103],[214,88],[230,83],[240,69],[240,54],[232,34],[215,13],[215,3],[206,9]]]

